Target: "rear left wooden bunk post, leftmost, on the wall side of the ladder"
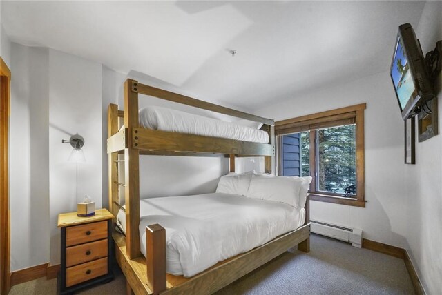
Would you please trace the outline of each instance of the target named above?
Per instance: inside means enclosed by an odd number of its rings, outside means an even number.
[[[110,104],[108,106],[108,138],[118,132],[118,105]],[[114,201],[118,202],[118,152],[108,154],[108,174],[109,174],[109,211],[113,216],[117,216],[118,207],[114,205]]]

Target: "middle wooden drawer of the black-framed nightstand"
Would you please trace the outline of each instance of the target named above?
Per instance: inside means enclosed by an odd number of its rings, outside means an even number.
[[[93,261],[108,256],[108,239],[68,247],[66,249],[66,267]]]

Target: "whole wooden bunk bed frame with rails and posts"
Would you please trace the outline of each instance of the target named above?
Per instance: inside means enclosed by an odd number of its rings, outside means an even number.
[[[270,143],[250,143],[209,136],[178,134],[140,128],[138,119],[138,94],[155,96],[196,108],[241,119],[262,123],[269,133]],[[119,130],[118,119],[124,118],[124,128]],[[119,186],[124,187],[126,199],[126,236],[113,233],[117,263],[126,276],[128,294],[211,294],[253,271],[289,248],[309,252],[309,198],[305,205],[305,224],[297,230],[282,234],[265,245],[239,254],[214,265],[191,278],[166,274],[166,234],[160,225],[146,227],[146,253],[140,252],[140,176],[139,156],[225,156],[230,158],[230,171],[235,171],[236,156],[264,156],[265,172],[275,172],[275,131],[273,120],[224,108],[188,96],[143,85],[127,79],[124,83],[124,111],[111,104],[108,107],[108,165],[109,210],[117,216]],[[124,160],[118,159],[124,154]],[[124,162],[125,183],[119,183],[118,164]]]

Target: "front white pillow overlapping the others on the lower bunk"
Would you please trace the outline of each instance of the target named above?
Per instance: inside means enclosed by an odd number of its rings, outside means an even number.
[[[298,208],[304,179],[288,176],[261,176],[253,174],[247,196],[289,204]]]

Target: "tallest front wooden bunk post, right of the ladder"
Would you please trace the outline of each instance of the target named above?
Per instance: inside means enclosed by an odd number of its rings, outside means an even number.
[[[127,146],[124,148],[125,198],[126,198],[126,252],[129,258],[141,256],[140,252],[140,154],[133,148],[133,128],[138,122],[137,81],[124,82],[124,127]],[[133,89],[134,88],[134,89]],[[135,91],[134,91],[135,90]]]

